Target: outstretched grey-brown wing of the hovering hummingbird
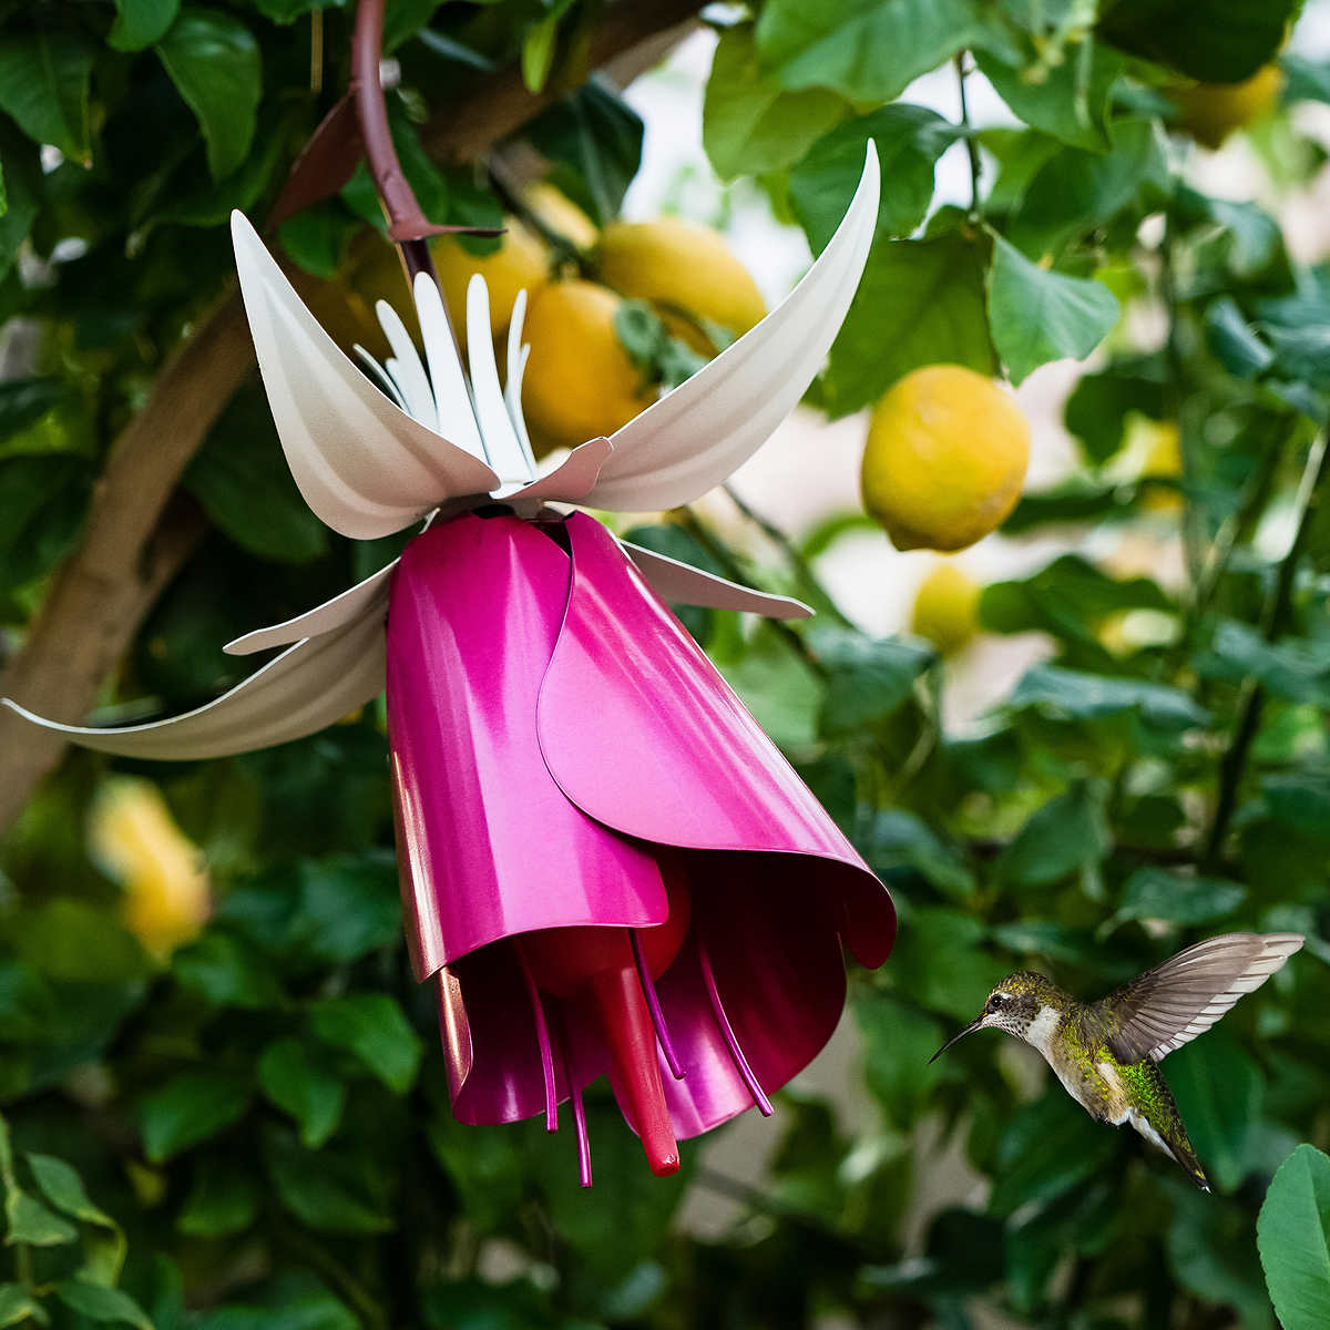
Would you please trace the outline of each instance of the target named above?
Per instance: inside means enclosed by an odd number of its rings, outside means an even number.
[[[1161,1061],[1260,988],[1301,946],[1297,932],[1226,932],[1198,942],[1096,1003],[1121,1063]]]

